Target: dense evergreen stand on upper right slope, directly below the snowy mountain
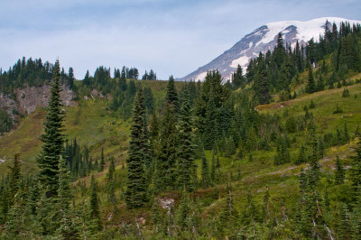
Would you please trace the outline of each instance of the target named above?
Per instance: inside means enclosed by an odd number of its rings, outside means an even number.
[[[272,100],[271,95],[284,91],[282,100],[296,97],[291,94],[291,86],[300,84],[300,73],[308,69],[308,93],[323,90],[326,86],[334,88],[334,84],[347,77],[349,70],[359,71],[360,24],[351,26],[341,23],[339,29],[335,23],[325,23],[324,36],[319,37],[319,42],[311,39],[306,46],[296,42],[292,49],[288,42],[284,43],[282,34],[277,37],[277,44],[273,51],[260,52],[258,58],[251,60],[245,78],[241,77],[242,69],[238,67],[232,79],[236,88],[253,82],[255,99],[260,104],[267,104]],[[351,53],[352,52],[352,53]],[[331,56],[331,69],[325,59]],[[317,67],[314,76],[313,69]],[[331,72],[331,73],[330,73]]]

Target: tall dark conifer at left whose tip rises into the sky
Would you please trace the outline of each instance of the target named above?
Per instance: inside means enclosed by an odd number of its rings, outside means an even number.
[[[59,160],[63,149],[64,135],[62,134],[62,121],[64,114],[60,103],[60,65],[55,62],[53,69],[53,82],[51,86],[51,98],[45,116],[44,134],[41,136],[42,151],[37,158],[39,177],[47,189],[46,196],[58,194]]]

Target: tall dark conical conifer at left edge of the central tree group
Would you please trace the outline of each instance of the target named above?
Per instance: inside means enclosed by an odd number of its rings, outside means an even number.
[[[143,160],[145,153],[143,131],[144,131],[144,113],[143,91],[139,88],[133,110],[133,125],[131,127],[131,140],[129,143],[128,166],[125,202],[127,208],[142,208],[147,202],[146,182]]]

